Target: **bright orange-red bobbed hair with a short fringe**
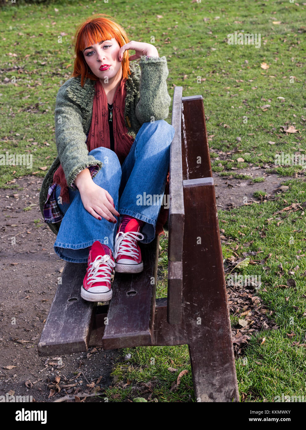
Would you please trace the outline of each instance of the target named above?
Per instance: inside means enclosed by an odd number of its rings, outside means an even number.
[[[85,49],[86,43],[90,45],[94,43],[101,42],[101,40],[111,40],[113,38],[116,39],[119,46],[125,45],[125,43],[129,43],[129,38],[125,33],[125,30],[121,27],[121,25],[112,21],[114,19],[104,13],[95,14],[94,17],[86,19],[83,24],[79,26],[74,36],[73,44],[75,46],[74,51],[76,54],[76,58],[74,60],[73,66],[73,74],[71,77],[81,77],[81,86],[83,87],[84,82],[87,78],[92,80],[98,80],[92,71],[90,70],[88,64],[85,61],[83,55],[83,49]],[[122,58],[122,78],[128,78],[128,74],[131,74],[129,67],[129,50],[126,50],[123,54]]]

